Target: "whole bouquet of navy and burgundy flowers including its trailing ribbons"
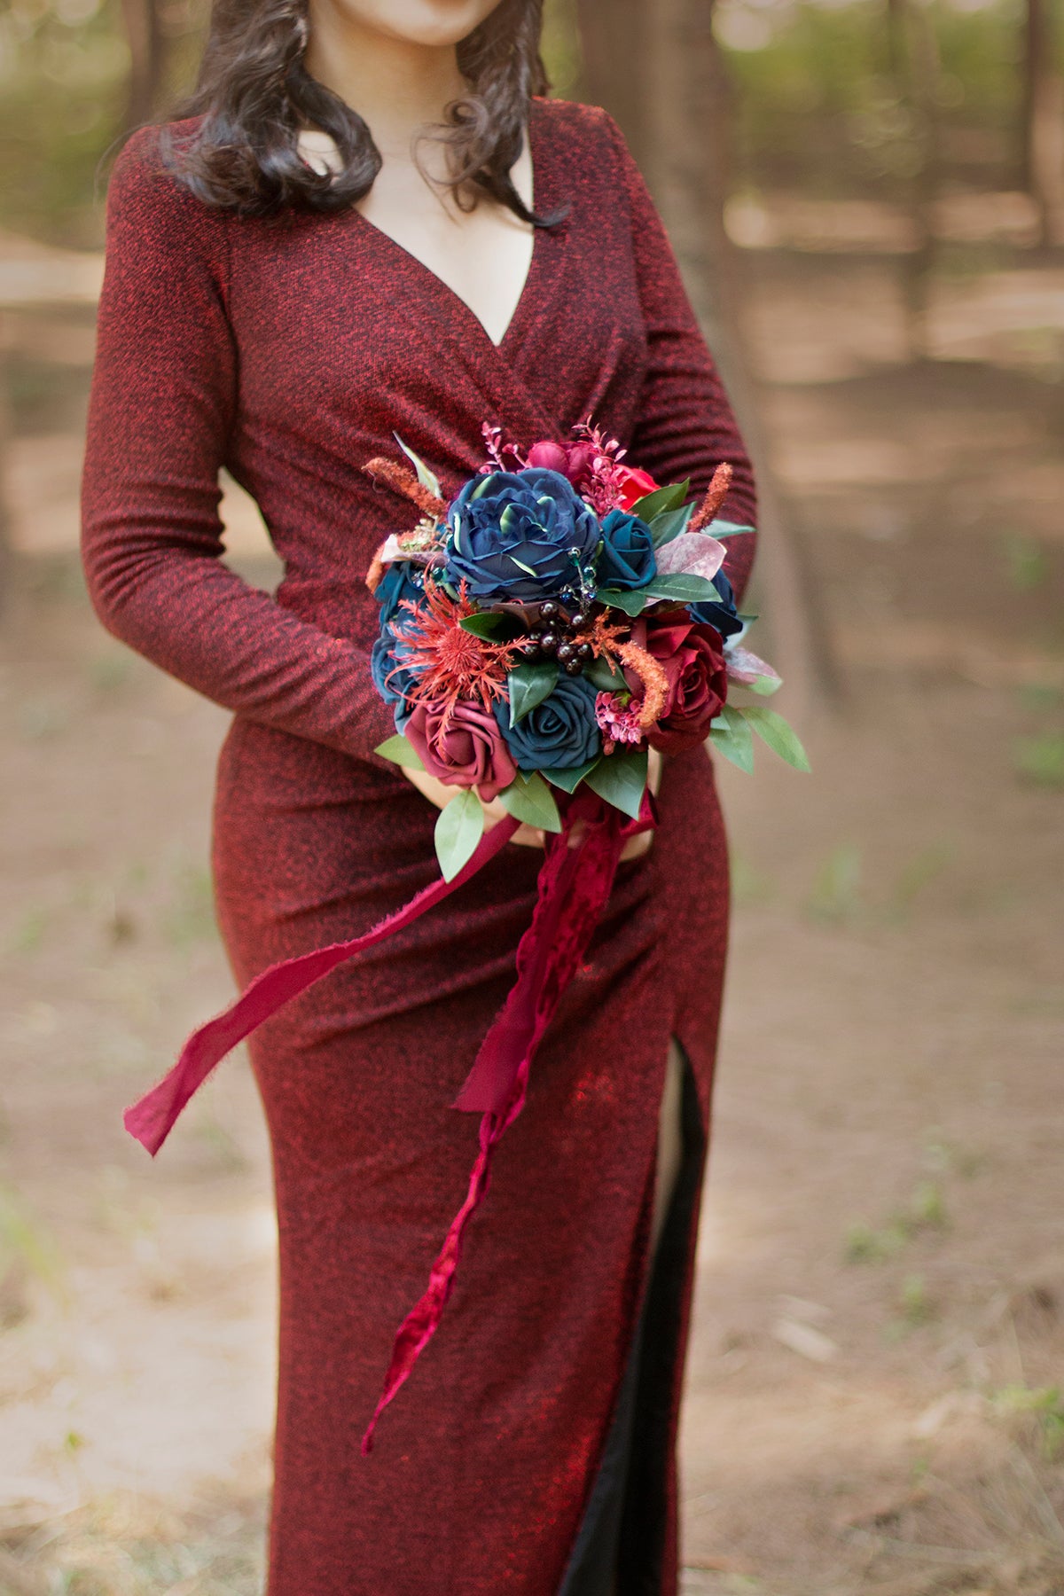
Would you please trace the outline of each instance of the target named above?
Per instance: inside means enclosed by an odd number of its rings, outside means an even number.
[[[656,825],[648,753],[707,737],[743,769],[753,733],[809,769],[786,721],[729,689],[770,694],[780,678],[742,643],[723,571],[731,468],[699,504],[689,484],[659,487],[590,423],[571,442],[526,455],[483,428],[487,461],[447,503],[428,466],[372,460],[420,520],[376,551],[367,584],[380,603],[372,672],[394,705],[396,736],[376,750],[456,787],[440,811],[440,876],[346,942],[262,970],[185,1042],[169,1074],[126,1109],[126,1128],[158,1152],[214,1066],[330,970],[412,924],[493,859],[522,822],[546,833],[536,903],[515,980],[453,1108],[477,1114],[477,1156],[424,1294],[399,1326],[380,1401],[362,1438],[410,1377],[451,1294],[469,1219],[488,1191],[498,1143],[525,1104],[536,1050],[595,932],[624,843]],[[410,469],[413,468],[413,469]],[[480,800],[507,814],[485,833]]]

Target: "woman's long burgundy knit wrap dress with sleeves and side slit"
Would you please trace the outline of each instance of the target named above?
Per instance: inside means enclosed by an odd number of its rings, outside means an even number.
[[[183,124],[180,124],[183,126]],[[236,980],[368,929],[435,878],[435,809],[373,755],[370,557],[410,508],[362,464],[397,431],[453,493],[480,425],[520,444],[592,417],[659,482],[753,522],[750,466],[662,225],[613,121],[531,107],[536,233],[496,346],[357,212],[244,220],[124,147],[107,211],[83,479],[104,624],[234,712],[214,809]],[[257,500],[276,594],[222,563],[219,468]],[[742,591],[753,536],[727,571]],[[675,1430],[727,930],[708,755],[667,760],[651,851],[603,921],[495,1160],[455,1294],[370,1457],[392,1336],[424,1290],[475,1152],[450,1104],[502,1004],[541,863],[507,844],[250,1044],[281,1238],[270,1596],[676,1590]],[[684,1162],[654,1267],[670,1034]],[[174,1039],[175,1044],[180,1041]],[[145,1082],[147,1085],[148,1082]]]

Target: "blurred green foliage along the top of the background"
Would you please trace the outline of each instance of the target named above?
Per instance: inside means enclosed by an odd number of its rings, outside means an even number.
[[[739,192],[799,188],[897,198],[928,160],[952,184],[1029,182],[1031,8],[1040,0],[932,0],[933,83],[914,107],[900,88],[890,0],[719,0],[713,30],[731,99]],[[622,24],[624,6],[617,21]],[[105,156],[195,75],[206,0],[6,0],[0,10],[0,140],[8,153],[0,227],[49,243],[99,243]],[[708,14],[708,6],[707,6]],[[1061,40],[1038,11],[1040,65],[1061,72]],[[555,93],[579,96],[573,0],[549,0]]]

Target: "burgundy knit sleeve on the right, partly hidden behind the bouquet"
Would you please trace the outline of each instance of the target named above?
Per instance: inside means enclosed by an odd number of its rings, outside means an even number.
[[[699,329],[668,235],[621,129],[606,117],[617,152],[632,220],[632,246],[648,337],[648,369],[640,423],[629,455],[659,482],[691,477],[705,492],[721,461],[732,466],[724,519],[756,525],[753,468],[716,364]],[[753,565],[756,535],[735,538],[724,570],[742,595]]]

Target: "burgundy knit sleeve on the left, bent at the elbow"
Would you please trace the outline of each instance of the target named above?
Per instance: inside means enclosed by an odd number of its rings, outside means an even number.
[[[124,145],[107,195],[81,477],[81,559],[104,626],[215,704],[383,768],[394,729],[368,656],[222,563],[219,468],[234,420],[231,215]]]

